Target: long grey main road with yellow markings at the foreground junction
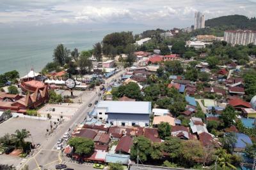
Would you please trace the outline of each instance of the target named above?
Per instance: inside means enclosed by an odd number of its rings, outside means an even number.
[[[122,70],[115,75],[111,76],[107,80],[105,80],[105,83],[108,84],[112,80],[117,79],[121,74],[123,74],[125,71]],[[105,86],[106,86],[105,84]],[[97,92],[97,93],[96,93]],[[29,170],[30,169],[54,169],[54,166],[56,164],[60,164],[63,159],[65,162],[65,156],[63,155],[62,152],[58,150],[54,150],[54,146],[56,146],[56,142],[58,139],[62,138],[63,134],[68,131],[70,128],[70,132],[74,131],[76,128],[77,124],[81,123],[84,118],[86,118],[86,114],[90,111],[92,111],[92,108],[88,108],[89,103],[93,103],[93,101],[99,99],[97,96],[99,94],[99,87],[97,87],[96,92],[92,92],[92,95],[88,96],[88,99],[83,101],[82,106],[77,110],[76,114],[74,117],[71,118],[68,122],[63,122],[56,131],[51,134],[47,138],[47,141],[40,146],[40,149],[38,152],[34,153],[33,157],[29,158],[24,164],[20,167],[24,167],[24,165],[28,165]],[[67,163],[68,167],[76,167],[81,166],[81,169],[90,169],[92,167],[86,167],[84,168],[84,165],[75,165],[72,163]]]

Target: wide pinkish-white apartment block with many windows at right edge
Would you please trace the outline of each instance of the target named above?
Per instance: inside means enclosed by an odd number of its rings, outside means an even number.
[[[248,45],[250,43],[256,45],[256,31],[225,31],[224,41],[227,41],[227,43],[230,43],[231,45]]]

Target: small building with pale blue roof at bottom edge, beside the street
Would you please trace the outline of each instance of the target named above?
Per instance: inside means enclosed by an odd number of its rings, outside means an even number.
[[[123,165],[129,164],[130,155],[116,154],[116,153],[108,153],[105,158],[105,162],[107,163],[119,163]]]

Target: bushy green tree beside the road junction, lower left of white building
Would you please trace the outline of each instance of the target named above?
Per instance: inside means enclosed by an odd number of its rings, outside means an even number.
[[[68,144],[74,147],[75,153],[79,155],[91,155],[94,150],[92,139],[72,137]]]

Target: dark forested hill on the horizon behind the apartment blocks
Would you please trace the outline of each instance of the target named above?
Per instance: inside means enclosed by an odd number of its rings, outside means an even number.
[[[251,29],[256,30],[256,18],[243,15],[228,15],[205,20],[206,27],[223,27],[225,29]]]

